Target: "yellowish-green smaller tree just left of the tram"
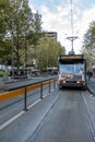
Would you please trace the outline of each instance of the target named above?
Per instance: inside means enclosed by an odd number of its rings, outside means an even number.
[[[39,39],[37,50],[37,64],[40,70],[57,67],[58,56],[62,54],[60,43],[47,35]]]

